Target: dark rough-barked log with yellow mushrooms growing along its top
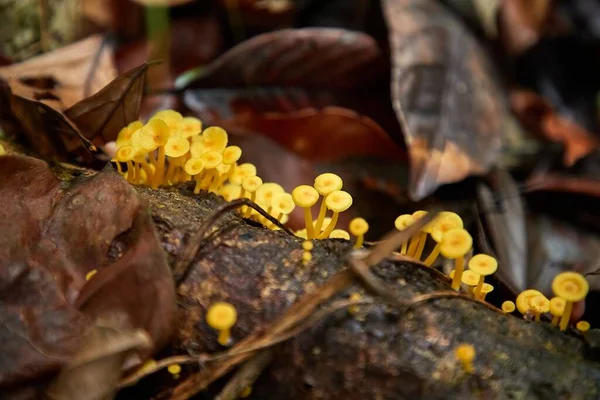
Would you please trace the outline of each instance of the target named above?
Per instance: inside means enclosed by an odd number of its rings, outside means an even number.
[[[189,238],[222,204],[185,187],[139,188],[149,202],[171,265]],[[316,241],[302,265],[302,239],[248,222],[235,213],[212,228],[179,286],[179,330],[172,345],[187,354],[221,351],[204,322],[207,307],[226,300],[238,309],[235,341],[262,329],[305,293],[317,293],[346,268],[351,245]],[[449,279],[420,264],[386,260],[371,269],[398,299],[447,291]],[[362,293],[373,303],[329,315],[277,345],[256,382],[256,399],[596,399],[600,364],[575,331],[559,332],[463,297],[399,309],[357,280],[337,295]],[[334,300],[334,299],[332,299]],[[460,343],[476,349],[474,372],[454,356]],[[193,370],[174,385],[186,385]],[[193,380],[193,379],[192,379]],[[162,393],[168,398],[177,388]],[[176,397],[176,396],[175,396]]]

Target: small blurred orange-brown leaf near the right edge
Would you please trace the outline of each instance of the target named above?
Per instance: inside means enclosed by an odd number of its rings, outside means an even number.
[[[534,92],[515,90],[510,95],[510,102],[513,112],[525,128],[564,145],[565,166],[572,166],[600,144],[585,128],[558,115],[549,102]]]

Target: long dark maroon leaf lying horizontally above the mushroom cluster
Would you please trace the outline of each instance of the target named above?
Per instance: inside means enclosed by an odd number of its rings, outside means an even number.
[[[370,36],[335,28],[284,29],[246,40],[206,68],[177,79],[176,86],[279,85],[353,87],[385,67]]]

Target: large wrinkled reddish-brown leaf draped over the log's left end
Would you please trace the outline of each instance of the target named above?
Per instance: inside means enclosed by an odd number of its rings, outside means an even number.
[[[0,157],[0,391],[67,365],[90,327],[173,329],[174,285],[149,215],[112,169],[60,181]],[[86,275],[98,270],[90,281]]]

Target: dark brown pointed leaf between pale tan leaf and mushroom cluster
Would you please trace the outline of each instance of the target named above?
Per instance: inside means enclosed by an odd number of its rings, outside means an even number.
[[[138,118],[148,66],[144,63],[127,71],[65,115],[86,138],[100,143],[115,140],[121,128]]]

